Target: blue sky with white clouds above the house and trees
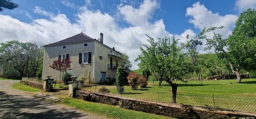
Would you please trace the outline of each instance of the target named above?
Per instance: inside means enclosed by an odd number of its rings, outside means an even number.
[[[140,45],[153,38],[175,37],[186,43],[204,27],[225,26],[220,33],[227,38],[235,22],[247,8],[256,9],[255,0],[13,0],[14,10],[0,12],[0,42],[19,40],[50,44],[83,32],[104,44],[126,53],[132,70]],[[212,34],[209,33],[209,37]],[[203,41],[205,43],[205,41]],[[197,48],[206,53],[204,46]]]

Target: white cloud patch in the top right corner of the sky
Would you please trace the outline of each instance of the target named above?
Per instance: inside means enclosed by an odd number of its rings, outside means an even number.
[[[246,11],[247,8],[256,9],[256,1],[255,0],[237,0],[235,5],[239,12]]]

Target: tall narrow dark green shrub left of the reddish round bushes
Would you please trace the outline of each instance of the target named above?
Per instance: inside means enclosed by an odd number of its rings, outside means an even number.
[[[118,66],[116,70],[116,88],[119,94],[124,92],[124,69],[122,66]]]

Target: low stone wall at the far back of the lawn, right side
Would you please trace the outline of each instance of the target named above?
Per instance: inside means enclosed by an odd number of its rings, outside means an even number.
[[[242,79],[250,79],[250,74],[241,74]],[[227,79],[236,79],[236,74],[222,74],[222,75],[214,75],[212,77],[207,77],[205,80],[227,80]]]

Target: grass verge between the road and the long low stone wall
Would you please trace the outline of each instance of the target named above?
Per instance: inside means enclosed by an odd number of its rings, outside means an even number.
[[[110,118],[168,118],[161,115],[154,115],[129,109],[119,108],[116,106],[92,103],[74,98],[63,98],[63,103],[86,112],[103,115]]]

